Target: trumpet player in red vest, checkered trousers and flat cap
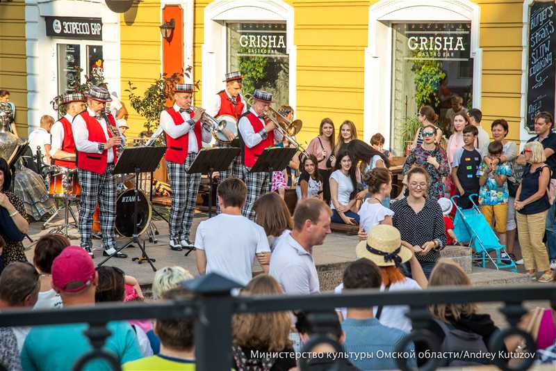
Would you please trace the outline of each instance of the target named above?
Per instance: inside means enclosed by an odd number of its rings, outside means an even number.
[[[211,132],[199,122],[204,110],[190,109],[192,97],[193,85],[176,84],[174,105],[161,113],[160,127],[166,134],[165,159],[172,187],[170,248],[174,251],[193,247],[189,232],[201,174],[188,174],[187,169],[202,149],[202,142],[211,141]]]

